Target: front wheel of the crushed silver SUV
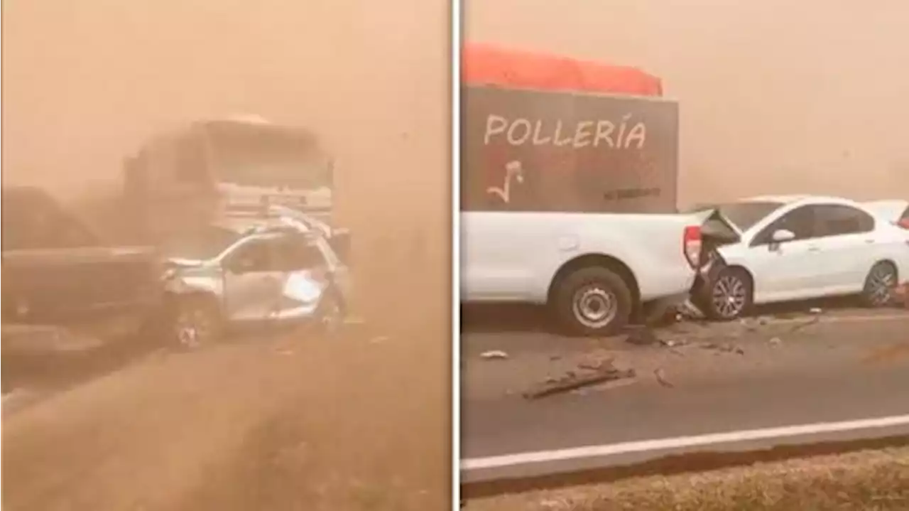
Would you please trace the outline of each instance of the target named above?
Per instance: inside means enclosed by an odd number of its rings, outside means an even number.
[[[165,336],[168,344],[194,349],[221,340],[224,326],[215,298],[175,296],[167,306]]]

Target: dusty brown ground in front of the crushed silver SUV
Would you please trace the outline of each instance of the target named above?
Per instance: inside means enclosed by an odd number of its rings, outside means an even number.
[[[0,418],[0,508],[444,509],[442,306],[365,336],[246,339],[80,371]]]

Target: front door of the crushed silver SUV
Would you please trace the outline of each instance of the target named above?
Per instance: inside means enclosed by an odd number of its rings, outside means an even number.
[[[224,310],[232,321],[262,321],[275,315],[285,272],[275,258],[275,235],[245,239],[225,255]]]

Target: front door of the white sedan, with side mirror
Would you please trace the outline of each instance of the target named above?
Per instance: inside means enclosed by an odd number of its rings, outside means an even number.
[[[775,243],[774,232],[791,231],[790,241]],[[816,242],[814,205],[802,205],[784,213],[754,236],[747,255],[754,275],[755,302],[796,300],[815,296],[822,260]]]

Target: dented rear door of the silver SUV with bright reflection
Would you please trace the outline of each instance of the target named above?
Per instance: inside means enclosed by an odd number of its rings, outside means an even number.
[[[278,267],[283,271],[276,314],[279,319],[313,316],[328,288],[331,268],[315,238],[284,235],[275,245]]]

